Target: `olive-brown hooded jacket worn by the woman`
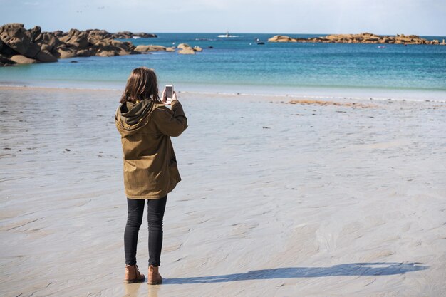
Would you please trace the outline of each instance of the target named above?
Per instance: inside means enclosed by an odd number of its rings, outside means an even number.
[[[160,199],[175,188],[181,177],[170,136],[187,128],[178,100],[171,109],[150,100],[126,102],[116,110],[121,135],[125,194],[130,199]]]

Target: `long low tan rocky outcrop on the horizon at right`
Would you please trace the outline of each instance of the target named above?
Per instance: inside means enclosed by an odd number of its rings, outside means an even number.
[[[324,37],[292,38],[276,35],[268,39],[268,42],[320,42],[320,43],[394,43],[394,44],[444,44],[440,41],[420,38],[416,35],[397,34],[396,36],[380,36],[372,33],[361,34],[333,34]]]

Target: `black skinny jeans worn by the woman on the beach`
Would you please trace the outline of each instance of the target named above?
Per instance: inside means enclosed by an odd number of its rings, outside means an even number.
[[[149,226],[149,265],[160,266],[162,248],[162,218],[167,196],[161,199],[127,199],[127,224],[124,231],[125,264],[136,264],[136,246],[142,223],[144,204],[147,201],[147,224]]]

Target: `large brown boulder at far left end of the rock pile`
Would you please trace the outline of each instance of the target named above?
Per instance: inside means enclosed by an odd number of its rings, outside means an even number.
[[[0,40],[16,53],[24,55],[31,43],[31,33],[24,24],[6,24],[0,27]]]

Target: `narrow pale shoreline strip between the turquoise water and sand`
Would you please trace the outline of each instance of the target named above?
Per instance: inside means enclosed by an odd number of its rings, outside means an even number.
[[[92,91],[92,92],[120,92],[122,93],[124,88],[75,88],[75,87],[51,87],[51,86],[36,86],[36,85],[0,85],[1,90],[66,90],[66,91]],[[271,88],[274,91],[274,88]],[[330,93],[331,89],[324,90],[325,93]],[[346,89],[351,90],[351,89]],[[353,90],[354,91],[354,90]],[[385,90],[380,90],[385,93]],[[434,92],[434,91],[430,91]],[[442,91],[438,91],[442,92]],[[385,97],[376,97],[376,96],[348,96],[348,95],[301,95],[301,94],[278,94],[278,93],[249,93],[249,92],[219,92],[219,91],[206,91],[206,90],[181,90],[178,91],[179,94],[196,94],[196,95],[211,95],[211,96],[241,96],[241,97],[254,97],[254,98],[274,98],[276,100],[296,100],[296,99],[315,99],[315,100],[358,100],[358,101],[397,101],[397,102],[415,102],[415,103],[446,103],[446,99],[437,99],[437,98],[409,98],[409,96],[399,95],[398,97],[385,96]],[[324,93],[324,92],[321,92]],[[389,91],[388,93],[392,93]],[[407,92],[411,93],[411,92]]]

